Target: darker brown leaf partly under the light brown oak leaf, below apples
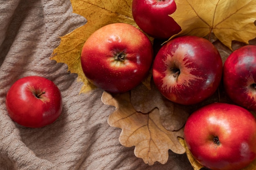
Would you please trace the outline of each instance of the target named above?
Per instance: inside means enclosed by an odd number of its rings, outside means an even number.
[[[155,107],[159,110],[159,117],[168,131],[180,130],[189,117],[189,107],[176,104],[165,98],[155,87],[153,81],[149,90],[141,84],[131,90],[130,101],[134,109],[141,113],[148,113]]]

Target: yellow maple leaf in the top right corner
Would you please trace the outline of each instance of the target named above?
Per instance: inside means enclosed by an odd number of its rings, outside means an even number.
[[[175,0],[175,2],[177,9],[170,16],[181,26],[182,31],[173,37],[182,35],[205,37],[213,33],[231,50],[232,40],[249,44],[249,40],[256,37],[255,0]]]

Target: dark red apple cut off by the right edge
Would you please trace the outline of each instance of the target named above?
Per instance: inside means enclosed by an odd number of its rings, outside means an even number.
[[[256,111],[256,46],[243,46],[229,55],[223,66],[223,83],[233,102]]]

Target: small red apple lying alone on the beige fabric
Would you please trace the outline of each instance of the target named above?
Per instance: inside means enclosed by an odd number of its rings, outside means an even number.
[[[45,93],[36,97],[41,92]],[[10,118],[29,128],[51,124],[61,115],[63,107],[58,87],[41,76],[18,79],[8,90],[5,103]]]

